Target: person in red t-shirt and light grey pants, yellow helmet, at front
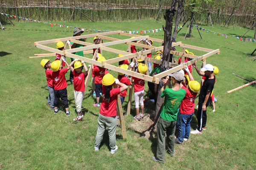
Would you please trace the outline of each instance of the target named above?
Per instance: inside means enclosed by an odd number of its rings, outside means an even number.
[[[102,104],[99,109],[98,130],[95,137],[94,150],[99,151],[100,143],[103,139],[105,128],[108,127],[110,153],[114,154],[118,147],[116,146],[116,100],[117,95],[125,91],[128,86],[119,82],[111,74],[106,74],[102,79]],[[120,88],[113,88],[113,85],[119,85]]]

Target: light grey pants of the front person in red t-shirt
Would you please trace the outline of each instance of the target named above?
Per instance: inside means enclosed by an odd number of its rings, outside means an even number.
[[[115,149],[116,147],[116,116],[108,117],[108,116],[103,116],[100,113],[98,118],[98,130],[95,138],[96,140],[95,147],[99,148],[99,145],[102,142],[103,134],[105,132],[106,127],[108,127],[109,146],[111,149]]]

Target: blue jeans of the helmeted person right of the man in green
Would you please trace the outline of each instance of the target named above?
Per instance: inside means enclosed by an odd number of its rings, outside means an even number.
[[[177,138],[179,142],[183,142],[183,139],[189,139],[189,134],[190,134],[190,122],[192,120],[192,114],[182,114],[180,113],[180,134],[179,137]]]

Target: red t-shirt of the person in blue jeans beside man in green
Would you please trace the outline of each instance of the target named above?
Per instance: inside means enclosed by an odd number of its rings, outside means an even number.
[[[180,113],[192,114],[195,112],[195,97],[198,93],[192,93],[184,86],[182,88],[186,90],[186,95],[180,104]]]

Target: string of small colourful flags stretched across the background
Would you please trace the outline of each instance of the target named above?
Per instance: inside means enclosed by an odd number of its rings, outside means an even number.
[[[39,21],[39,20],[29,19],[29,18],[25,18],[25,17],[18,17],[16,15],[4,14],[2,12],[0,12],[0,14],[6,15],[6,16],[9,16],[9,17],[13,17],[13,18],[20,18],[20,19],[29,21],[30,23],[31,22],[38,22],[38,23],[49,24],[50,26],[58,26],[60,28],[79,28],[82,31],[111,32],[109,30],[98,30],[98,29],[80,28],[80,27],[76,27],[76,26],[65,26],[65,25],[56,24],[56,23],[47,23],[47,22],[42,22],[42,21]],[[241,37],[237,37],[235,35],[222,34],[222,33],[218,33],[218,32],[215,32],[215,31],[208,30],[206,28],[202,28],[201,26],[198,26],[198,25],[192,25],[192,27],[194,27],[194,26],[197,27],[200,31],[203,30],[203,31],[206,31],[207,33],[210,33],[210,34],[214,34],[214,35],[217,34],[217,36],[222,36],[222,37],[225,37],[225,38],[236,37],[237,39],[239,39],[239,40],[241,40],[243,42],[256,42],[256,39],[241,38]],[[189,25],[186,25],[186,27],[188,28]],[[173,28],[174,28],[174,26],[173,26]],[[183,28],[183,27],[182,26],[178,26],[178,29],[180,29],[180,28]],[[147,33],[155,33],[155,32],[158,32],[158,31],[163,31],[163,28],[152,29],[152,30],[143,30],[143,31],[122,31],[122,32],[129,33],[129,34],[147,34]]]

